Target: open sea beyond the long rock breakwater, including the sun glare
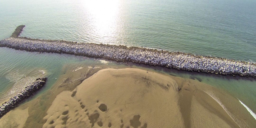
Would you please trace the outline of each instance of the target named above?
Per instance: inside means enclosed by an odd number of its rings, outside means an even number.
[[[254,0],[1,0],[0,39],[143,46],[256,61]],[[15,26],[16,25],[16,26]]]

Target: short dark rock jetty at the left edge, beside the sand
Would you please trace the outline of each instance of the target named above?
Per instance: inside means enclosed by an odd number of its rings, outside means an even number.
[[[27,98],[33,95],[35,92],[40,90],[46,83],[47,78],[37,78],[31,85],[26,86],[24,90],[18,93],[16,96],[10,98],[10,100],[4,102],[0,106],[0,118],[7,112],[17,107],[19,104],[24,102]]]

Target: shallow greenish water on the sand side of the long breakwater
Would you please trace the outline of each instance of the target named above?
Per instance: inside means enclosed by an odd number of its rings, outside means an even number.
[[[4,54],[9,53],[9,54]],[[1,65],[12,63],[12,66],[7,66],[1,69],[0,72],[5,72],[0,74],[0,79],[3,81],[1,84],[0,95],[2,98],[11,97],[8,95],[10,93],[15,94],[12,90],[21,89],[27,83],[32,82],[32,78],[46,76],[48,77],[48,82],[46,87],[42,89],[36,96],[44,93],[52,85],[56,83],[56,80],[63,74],[65,70],[76,71],[81,69],[81,67],[86,66],[108,66],[116,67],[121,66],[123,68],[142,68],[144,70],[153,70],[155,72],[162,72],[164,74],[170,74],[173,76],[179,76],[182,78],[189,78],[210,84],[216,88],[220,88],[225,92],[230,93],[235,98],[241,100],[246,106],[248,106],[253,112],[256,111],[256,80],[241,78],[241,77],[230,77],[230,76],[220,76],[211,75],[204,73],[193,73],[178,70],[170,70],[160,67],[150,67],[143,65],[133,65],[131,63],[118,64],[116,62],[111,62],[107,60],[100,60],[94,58],[87,58],[83,56],[74,56],[68,54],[52,54],[52,53],[39,53],[39,52],[25,52],[20,50],[14,50],[10,48],[0,48],[0,60]],[[12,56],[16,56],[18,59],[13,59]],[[10,59],[12,58],[12,59]],[[14,62],[13,62],[14,61]],[[22,67],[22,68],[20,68]],[[44,73],[44,74],[43,74]],[[26,76],[26,77],[24,77]],[[2,82],[1,81],[1,82]],[[16,88],[16,89],[13,89]]]

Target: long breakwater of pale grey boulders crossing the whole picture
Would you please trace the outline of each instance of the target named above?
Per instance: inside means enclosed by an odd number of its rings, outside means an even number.
[[[15,33],[20,34],[23,27],[17,27]],[[40,40],[16,35],[1,40],[0,46],[31,52],[54,52],[104,58],[116,62],[133,62],[192,72],[256,77],[255,63],[210,56],[196,56],[182,52],[108,44],[77,43],[64,40]]]

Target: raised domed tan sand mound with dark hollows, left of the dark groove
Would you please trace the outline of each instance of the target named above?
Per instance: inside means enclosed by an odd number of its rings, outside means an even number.
[[[94,128],[146,128],[170,125],[165,122],[180,126],[183,121],[175,98],[177,90],[178,84],[172,78],[158,73],[138,69],[100,70],[73,92],[59,94],[47,111],[43,127],[82,124]],[[168,102],[173,104],[163,104]],[[62,115],[67,110],[68,114]],[[170,118],[170,113],[175,118]],[[62,125],[66,116],[66,125]],[[156,123],[154,120],[159,118],[161,120]],[[51,124],[52,120],[55,123]]]

